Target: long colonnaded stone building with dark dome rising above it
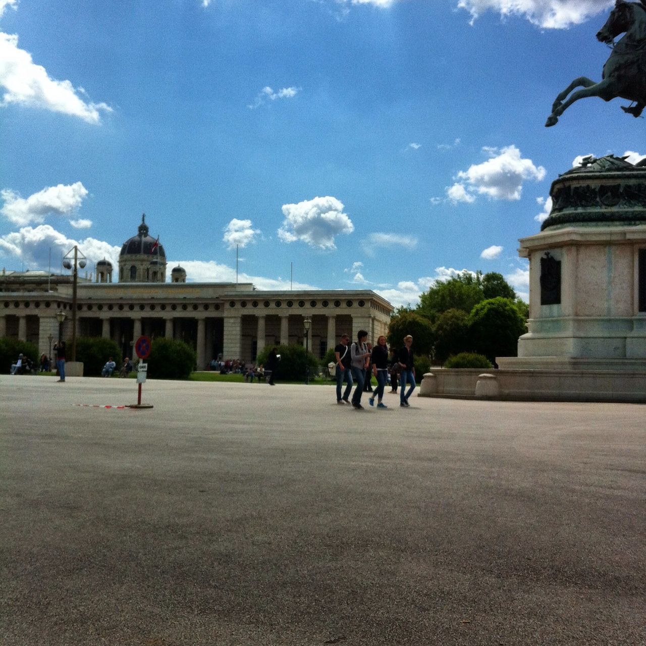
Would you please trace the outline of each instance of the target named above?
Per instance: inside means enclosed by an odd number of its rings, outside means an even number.
[[[140,335],[181,339],[197,352],[198,370],[218,355],[253,361],[269,344],[304,344],[322,357],[342,333],[359,329],[377,339],[388,330],[391,304],[370,289],[266,291],[251,283],[186,282],[182,267],[166,282],[166,255],[142,217],[136,236],[121,247],[118,282],[112,264],[96,264],[94,282],[78,278],[77,335],[109,337],[124,356]],[[57,313],[63,337],[72,334],[72,276],[47,271],[0,274],[0,337],[32,341],[51,353]]]

